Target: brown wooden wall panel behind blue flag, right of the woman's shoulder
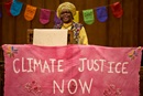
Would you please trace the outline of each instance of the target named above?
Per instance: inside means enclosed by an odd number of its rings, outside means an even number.
[[[108,6],[107,1],[92,0],[92,6],[87,1],[87,9],[96,9],[98,7]],[[89,43],[96,45],[107,45],[107,22],[100,22],[97,20],[97,13],[95,11],[95,23],[91,25],[85,24],[89,36]]]

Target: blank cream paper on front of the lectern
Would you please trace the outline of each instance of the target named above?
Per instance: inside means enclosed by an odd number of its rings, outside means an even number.
[[[34,29],[33,44],[44,46],[67,45],[67,30]]]

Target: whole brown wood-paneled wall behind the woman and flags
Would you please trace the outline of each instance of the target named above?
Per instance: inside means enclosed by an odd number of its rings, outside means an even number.
[[[19,0],[23,8],[18,17],[8,15],[4,3],[10,0],[2,0],[2,18],[0,18],[0,45],[2,44],[25,44],[28,29],[52,29],[54,25],[54,13],[59,3],[73,2],[80,14],[80,23],[84,24],[89,39],[89,44],[105,46],[141,46],[143,45],[143,0]],[[123,9],[122,18],[114,18],[110,4],[120,1]],[[32,21],[24,19],[25,6],[31,4],[37,8],[35,18]],[[88,25],[84,22],[82,10],[106,6],[108,8],[108,21],[99,22],[95,14],[95,22]],[[50,23],[40,23],[40,9],[52,10]],[[0,56],[0,60],[2,57]]]

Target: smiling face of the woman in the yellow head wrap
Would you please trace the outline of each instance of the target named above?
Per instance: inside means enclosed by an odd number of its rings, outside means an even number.
[[[61,20],[64,22],[64,23],[69,23],[73,21],[73,14],[69,10],[67,9],[64,9],[62,12],[61,12]]]

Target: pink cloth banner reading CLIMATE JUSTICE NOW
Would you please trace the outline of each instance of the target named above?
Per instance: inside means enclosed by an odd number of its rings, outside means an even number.
[[[141,47],[3,45],[4,96],[139,96]]]

